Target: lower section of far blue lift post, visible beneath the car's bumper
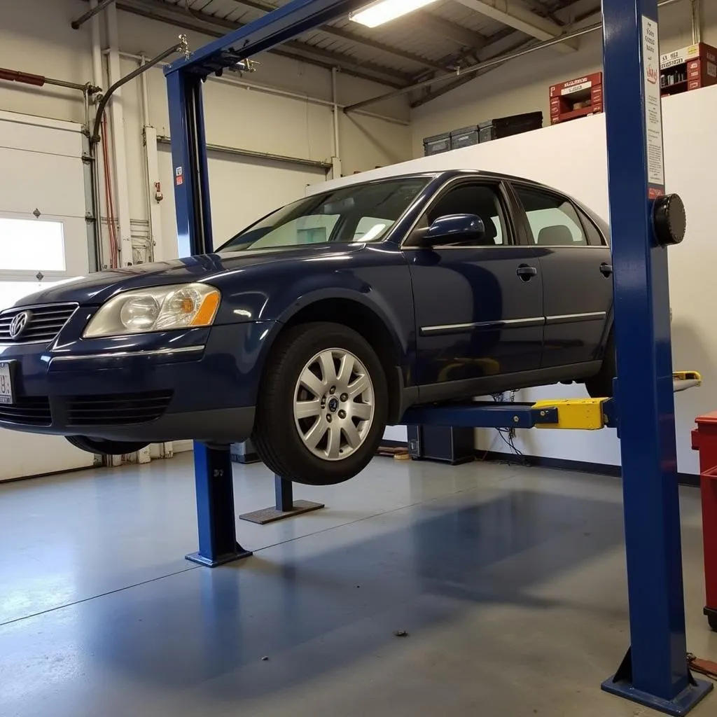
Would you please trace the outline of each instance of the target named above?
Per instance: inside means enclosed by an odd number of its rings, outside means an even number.
[[[194,444],[196,520],[199,551],[187,560],[214,568],[251,555],[237,543],[234,523],[234,484],[229,447]]]

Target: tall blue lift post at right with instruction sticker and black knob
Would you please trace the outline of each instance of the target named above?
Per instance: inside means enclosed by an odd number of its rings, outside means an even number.
[[[602,0],[602,14],[631,643],[602,686],[681,715],[712,684],[690,674],[685,637],[668,250],[655,224],[665,196],[657,0]]]

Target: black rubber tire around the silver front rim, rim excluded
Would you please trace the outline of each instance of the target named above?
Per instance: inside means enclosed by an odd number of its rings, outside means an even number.
[[[304,445],[294,419],[294,399],[304,367],[317,353],[331,348],[350,351],[364,364],[373,384],[374,417],[364,442],[351,455],[323,460]],[[252,441],[262,461],[277,475],[305,485],[336,485],[369,464],[384,435],[387,414],[386,376],[366,339],[338,323],[304,323],[282,333],[267,359]]]

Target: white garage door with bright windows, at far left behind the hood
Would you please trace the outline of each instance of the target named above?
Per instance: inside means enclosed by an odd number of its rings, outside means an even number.
[[[0,309],[87,273],[80,129],[0,112]],[[0,455],[0,480],[92,465],[62,437],[2,429]]]

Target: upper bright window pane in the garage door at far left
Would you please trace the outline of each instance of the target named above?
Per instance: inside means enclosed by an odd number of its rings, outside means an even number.
[[[0,270],[64,272],[62,222],[0,217]]]

